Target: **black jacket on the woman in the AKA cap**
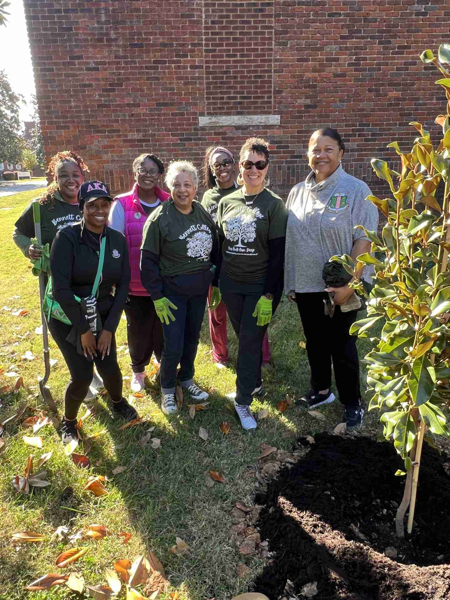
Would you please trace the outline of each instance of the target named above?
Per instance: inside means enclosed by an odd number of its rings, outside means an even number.
[[[97,290],[97,310],[103,329],[114,334],[127,301],[130,260],[127,242],[122,233],[105,227],[101,235],[106,235],[106,247]],[[90,235],[85,227],[82,230],[82,223],[59,231],[50,250],[53,296],[79,334],[89,331],[89,325],[74,294],[80,298],[91,295],[99,254],[100,241],[95,235]]]

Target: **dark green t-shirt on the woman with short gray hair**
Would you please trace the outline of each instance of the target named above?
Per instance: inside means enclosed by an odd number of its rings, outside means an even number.
[[[145,221],[141,250],[159,254],[162,277],[197,273],[212,267],[215,223],[199,202],[194,200],[192,208],[191,214],[184,215],[169,200]]]

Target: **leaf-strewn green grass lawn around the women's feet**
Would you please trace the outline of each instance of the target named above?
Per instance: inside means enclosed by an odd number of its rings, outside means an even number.
[[[1,298],[0,307],[29,311],[25,316],[13,316],[11,311],[0,310],[0,388],[14,383],[5,373],[16,371],[23,377],[25,388],[17,394],[1,394],[3,406],[1,420],[14,415],[23,403],[34,410],[42,410],[38,392],[38,376],[44,373],[42,336],[35,334],[40,325],[38,282],[31,275],[29,262],[11,240],[13,223],[22,210],[37,196],[36,191],[9,196],[7,205],[11,210],[2,211],[0,218]],[[20,298],[14,298],[20,296]],[[117,334],[119,361],[124,376],[131,377],[130,357],[125,353],[127,341],[126,322],[121,320]],[[181,412],[172,418],[160,410],[157,389],[136,399],[140,415],[150,422],[139,424],[129,430],[119,430],[122,422],[114,421],[108,409],[107,399],[98,397],[94,403],[94,416],[86,419],[83,434],[93,436],[87,469],[75,466],[66,457],[55,426],[62,416],[59,406],[58,419],[42,428],[36,435],[43,439],[43,448],[26,445],[22,436],[33,435],[22,430],[21,422],[31,416],[26,412],[19,419],[5,425],[4,446],[0,450],[0,598],[16,600],[26,598],[88,598],[88,593],[77,596],[65,586],[49,591],[25,592],[23,587],[38,577],[52,572],[82,573],[86,584],[106,583],[105,568],[112,568],[118,559],[133,561],[138,554],[152,551],[160,558],[173,589],[180,591],[182,599],[231,598],[245,592],[249,580],[238,579],[236,565],[242,562],[229,539],[232,525],[229,512],[235,502],[251,503],[254,479],[245,478],[248,466],[256,463],[260,443],[265,442],[279,449],[290,450],[295,436],[327,430],[341,422],[343,409],[339,403],[327,405],[320,412],[326,421],[308,415],[299,407],[289,407],[286,412],[276,410],[277,403],[289,393],[298,397],[308,388],[309,373],[307,356],[301,342],[304,341],[296,308],[284,299],[269,326],[275,370],[264,376],[267,395],[253,404],[254,409],[266,407],[269,417],[260,422],[253,434],[244,433],[235,418],[234,410],[225,395],[235,389],[233,368],[217,370],[212,362],[208,320],[205,317],[196,360],[196,381],[208,390],[210,404],[197,412],[192,420],[185,398]],[[235,335],[229,330],[230,354],[236,358]],[[332,340],[323,340],[331,344]],[[370,341],[359,341],[360,355],[370,347]],[[28,361],[22,358],[26,350],[36,357]],[[50,339],[50,355],[58,362],[52,367],[49,385],[55,400],[61,403],[68,371],[56,344]],[[362,388],[365,390],[365,367],[361,366]],[[128,395],[130,379],[124,381],[124,394]],[[367,401],[367,394],[364,393]],[[84,406],[80,415],[84,412]],[[366,413],[367,414],[367,413]],[[379,416],[370,413],[362,431],[379,430]],[[229,421],[230,433],[224,436],[219,425]],[[209,433],[206,442],[200,439],[200,425]],[[154,426],[154,437],[161,440],[160,448],[142,446],[140,437]],[[357,443],[355,441],[355,443]],[[82,447],[79,452],[82,452]],[[44,452],[53,452],[43,467],[47,470],[48,487],[31,488],[29,496],[17,494],[12,479],[22,475],[26,458],[33,454],[37,460]],[[115,467],[125,470],[117,475]],[[225,483],[207,487],[205,476],[209,470],[222,473]],[[83,493],[89,475],[103,475],[108,495],[95,497]],[[89,524],[107,527],[109,535],[100,541],[82,539],[74,543],[88,548],[76,563],[64,569],[55,566],[56,557],[71,547],[70,542],[52,538],[61,525],[70,527],[74,533]],[[23,530],[44,535],[44,541],[13,544],[11,534]],[[120,532],[132,534],[130,542],[122,545]],[[178,536],[191,547],[190,554],[173,556],[169,548]],[[262,569],[260,559],[244,559],[251,567],[251,578]],[[173,591],[173,590],[172,590]],[[167,596],[168,597],[168,596]],[[119,593],[125,598],[125,589]],[[166,596],[161,596],[166,598]]]

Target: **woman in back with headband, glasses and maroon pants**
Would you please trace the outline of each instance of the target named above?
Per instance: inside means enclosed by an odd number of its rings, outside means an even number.
[[[217,221],[217,207],[220,200],[238,189],[235,176],[235,157],[222,146],[209,146],[205,152],[205,182],[208,188],[203,194],[202,206]],[[211,335],[212,359],[217,368],[227,367],[230,361],[227,337],[227,310],[223,302],[218,302],[218,288],[209,287],[208,317]],[[267,332],[262,344],[262,366],[271,366],[271,349]]]

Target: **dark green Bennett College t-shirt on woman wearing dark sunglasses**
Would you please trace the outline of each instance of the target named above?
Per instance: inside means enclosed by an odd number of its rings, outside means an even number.
[[[242,188],[218,205],[217,227],[223,241],[222,268],[229,277],[264,283],[269,264],[269,240],[286,236],[287,210],[283,200],[264,189],[245,196]]]

